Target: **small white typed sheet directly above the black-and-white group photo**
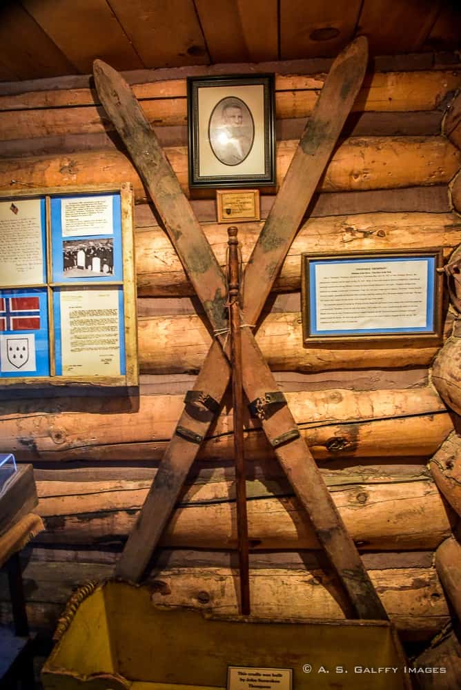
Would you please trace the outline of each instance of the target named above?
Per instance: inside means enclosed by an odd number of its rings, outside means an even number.
[[[61,199],[61,231],[63,237],[112,235],[112,196]]]

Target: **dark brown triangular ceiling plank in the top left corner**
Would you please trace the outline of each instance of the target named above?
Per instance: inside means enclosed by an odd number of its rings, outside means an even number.
[[[2,79],[57,77],[75,72],[75,66],[18,3],[5,4],[0,11],[0,61]]]

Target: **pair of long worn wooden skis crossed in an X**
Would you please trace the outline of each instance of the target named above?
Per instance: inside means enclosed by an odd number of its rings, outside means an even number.
[[[284,185],[277,196],[273,213],[266,221],[262,236],[253,251],[251,264],[246,273],[249,280],[253,282],[257,277],[259,285],[255,290],[257,295],[253,299],[251,291],[247,292],[248,285],[246,285],[246,294],[251,295],[245,302],[246,322],[258,316],[266,294],[271,289],[271,281],[283,262],[306,204],[317,186],[317,181],[331,155],[344,119],[360,88],[365,64],[365,39],[357,39],[333,64],[322,90],[325,99],[322,99],[321,95],[313,118],[304,132],[291,168],[288,170]],[[157,144],[155,135],[150,130],[129,87],[117,75],[117,72],[97,61],[95,80],[101,101],[132,154],[157,210],[164,219],[170,239],[177,248],[190,279],[195,285],[197,295],[204,304],[213,328],[222,331],[225,328],[222,299],[226,289],[222,271],[193,217],[188,201],[182,194],[168,161]],[[335,88],[331,85],[332,80],[333,83],[336,81]],[[339,100],[342,108],[339,108],[337,103],[335,107],[335,99]],[[308,175],[308,185],[306,185],[306,175]],[[288,184],[295,184],[295,188],[289,188]],[[304,192],[306,186],[311,191]],[[298,188],[300,193],[298,193]],[[291,201],[293,210],[284,206],[287,201]],[[266,228],[271,227],[276,230],[271,230],[271,233],[266,231]],[[267,276],[263,285],[261,285],[262,275]],[[264,401],[267,402],[268,397],[272,396],[277,402],[278,395],[280,403],[282,398],[277,392],[273,376],[248,328],[242,333],[242,346],[246,362],[244,384],[248,399],[259,401],[264,407]],[[117,568],[117,575],[137,580],[144,572],[148,558],[174,507],[190,464],[197,454],[198,447],[193,448],[193,446],[198,446],[202,442],[213,418],[213,414],[210,417],[210,413],[216,413],[217,402],[222,399],[228,377],[226,360],[214,344],[210,348],[194,391],[190,392],[195,395],[190,396],[189,399],[186,397],[186,408],[180,424],[161,462],[159,473],[137,525],[130,535]],[[268,390],[272,393],[267,393]],[[198,400],[202,401],[203,407],[197,404]],[[210,406],[211,401],[213,401],[213,406]],[[262,417],[264,416],[266,416],[266,419],[262,420],[264,431],[273,444],[297,496],[311,518],[320,543],[340,575],[355,615],[362,618],[385,618],[384,609],[371,586],[355,545],[344,529],[306,444],[300,439],[291,413],[282,404],[271,417],[263,412]],[[183,426],[183,421],[186,421],[188,426]],[[281,430],[285,431],[280,434]]]

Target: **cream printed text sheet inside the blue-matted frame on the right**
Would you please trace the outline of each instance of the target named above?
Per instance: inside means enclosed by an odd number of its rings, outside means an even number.
[[[426,259],[315,265],[317,331],[424,328]]]

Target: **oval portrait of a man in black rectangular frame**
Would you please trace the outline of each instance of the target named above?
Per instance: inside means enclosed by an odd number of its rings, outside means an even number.
[[[188,78],[190,187],[275,185],[274,76]]]

